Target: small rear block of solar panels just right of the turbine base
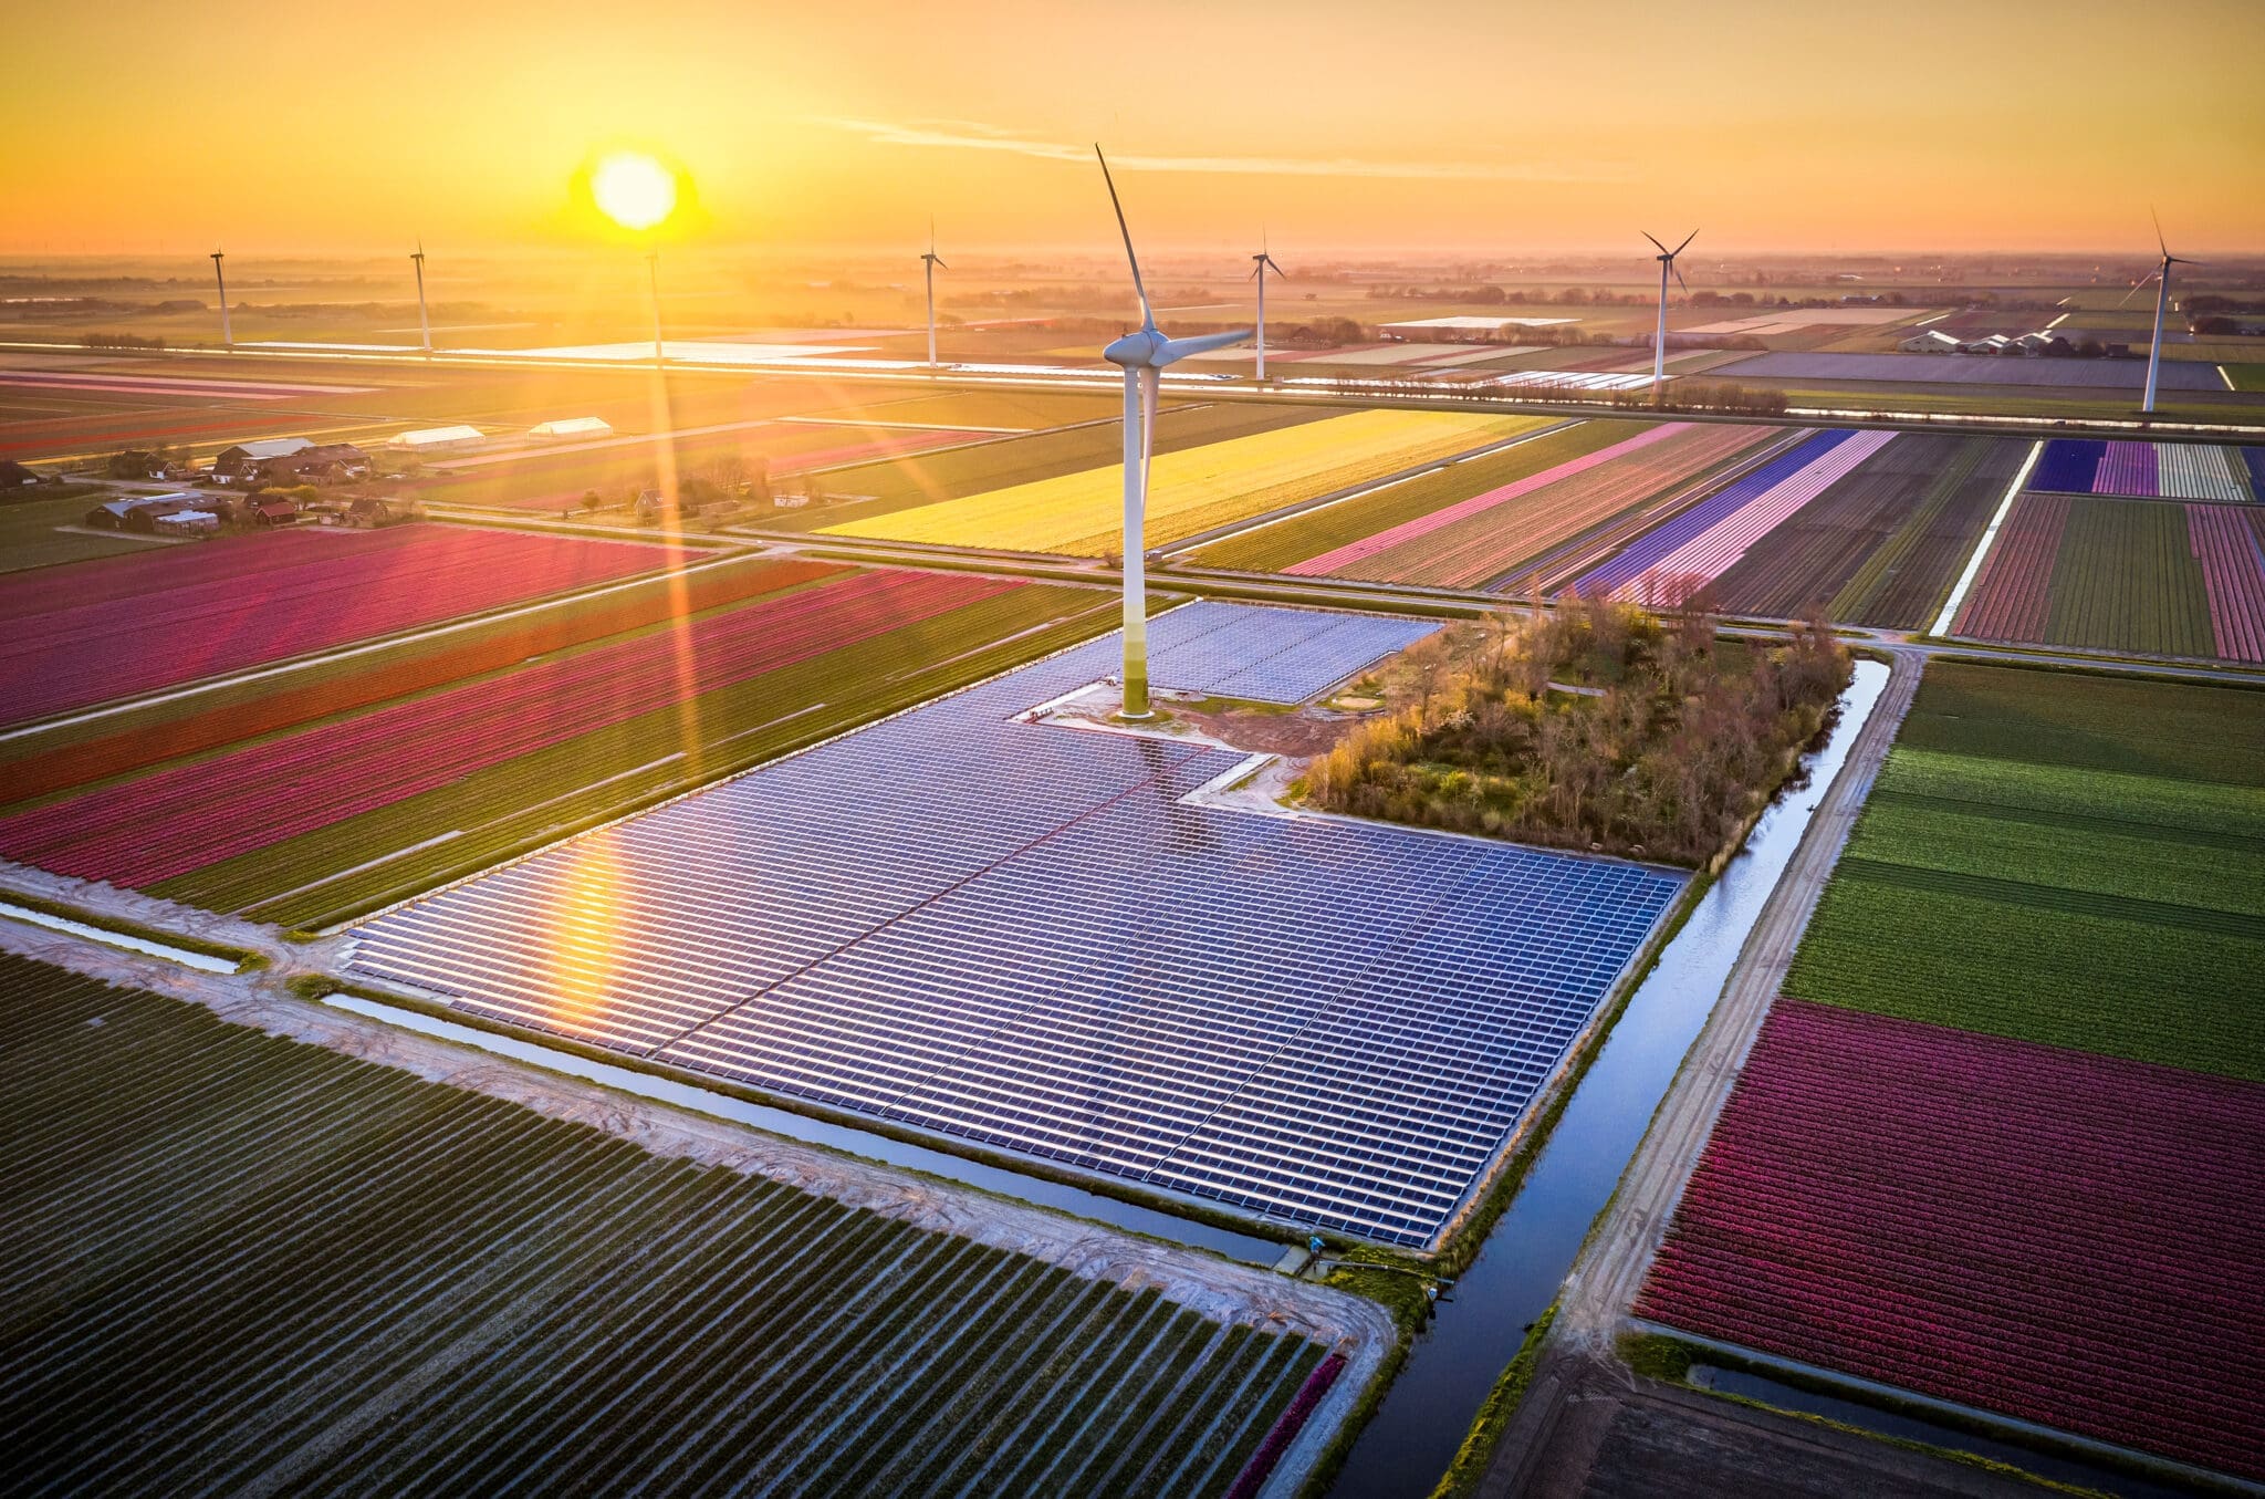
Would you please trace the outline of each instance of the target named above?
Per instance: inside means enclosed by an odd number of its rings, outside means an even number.
[[[1438,629],[1379,614],[1189,605],[1151,625],[1148,679],[1214,697],[1305,702]]]

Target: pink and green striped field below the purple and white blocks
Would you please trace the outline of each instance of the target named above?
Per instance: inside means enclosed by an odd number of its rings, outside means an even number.
[[[2265,661],[2265,507],[2032,491],[1952,634]]]

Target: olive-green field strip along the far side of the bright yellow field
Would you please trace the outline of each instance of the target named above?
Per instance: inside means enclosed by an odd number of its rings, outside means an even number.
[[[1123,410],[1121,405],[1117,410]],[[1114,414],[1114,412],[1112,412]],[[1293,405],[1237,401],[1225,405],[1164,405],[1155,426],[1155,451],[1180,453],[1212,442],[1316,421],[1325,412]],[[949,453],[915,453],[824,476],[822,489],[838,498],[820,509],[790,509],[770,519],[772,528],[813,530],[867,521],[915,505],[938,505],[992,489],[1114,469],[1123,462],[1123,428],[1117,421],[988,442]]]

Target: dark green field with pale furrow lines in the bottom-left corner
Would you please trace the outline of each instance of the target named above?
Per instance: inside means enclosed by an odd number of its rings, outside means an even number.
[[[7,1492],[1216,1494],[1323,1350],[0,956]]]

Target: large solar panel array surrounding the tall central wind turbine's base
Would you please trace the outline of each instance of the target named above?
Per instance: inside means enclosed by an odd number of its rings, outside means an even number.
[[[1232,666],[1234,641],[1284,639],[1277,614],[1300,614],[1311,659],[1289,643]],[[1345,620],[1377,623],[1203,605],[1151,632],[1157,659],[1210,682],[1273,663],[1291,691],[1366,663],[1345,666],[1375,636]],[[1114,636],[1083,645],[387,913],[351,967],[754,1087],[1427,1243],[1683,876],[1191,806],[1237,752],[1015,722],[1114,652]]]

